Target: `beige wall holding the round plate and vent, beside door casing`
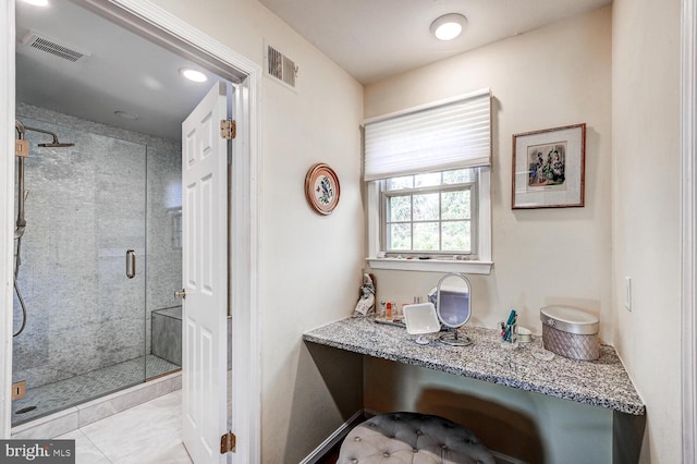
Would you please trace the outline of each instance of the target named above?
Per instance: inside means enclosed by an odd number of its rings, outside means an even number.
[[[360,363],[342,364],[341,392],[332,373],[317,367],[327,365],[326,353],[310,354],[302,333],[348,316],[358,296],[363,87],[255,0],[155,3],[258,64],[266,39],[299,66],[296,93],[261,82],[258,211],[261,456],[297,463],[360,407]],[[304,196],[316,162],[329,163],[341,182],[329,217],[315,215]]]

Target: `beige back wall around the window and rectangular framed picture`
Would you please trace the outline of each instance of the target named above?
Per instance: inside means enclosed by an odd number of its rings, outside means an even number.
[[[602,338],[612,341],[611,25],[612,9],[606,7],[366,86],[366,118],[482,87],[492,90],[494,268],[491,276],[469,276],[473,316],[468,323],[493,328],[515,308],[521,323],[539,333],[539,308],[565,303],[598,314]],[[513,211],[512,135],[582,122],[587,124],[586,206]],[[375,273],[378,298],[402,302],[425,295],[441,277]],[[530,418],[546,462],[611,460],[612,417],[607,410],[482,388],[476,381],[413,366],[387,369],[374,359],[365,364],[367,407],[418,410],[426,407],[424,399],[433,391],[440,395],[437,401],[474,394]],[[379,380],[370,375],[375,371],[381,371]],[[453,414],[463,401],[455,400]]]

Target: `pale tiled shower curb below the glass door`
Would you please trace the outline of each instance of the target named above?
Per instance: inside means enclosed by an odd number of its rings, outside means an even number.
[[[182,388],[181,370],[12,428],[12,438],[51,439]]]

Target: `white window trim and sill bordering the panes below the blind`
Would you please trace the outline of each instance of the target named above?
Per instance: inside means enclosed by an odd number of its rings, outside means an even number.
[[[382,203],[380,182],[366,182],[367,190],[367,252],[366,261],[371,269],[408,270],[425,272],[466,272],[490,274],[493,267],[491,254],[491,168],[476,168],[477,175],[477,251],[474,259],[452,259],[439,256],[430,259],[405,259],[387,257],[381,251]],[[474,249],[473,249],[474,252]]]

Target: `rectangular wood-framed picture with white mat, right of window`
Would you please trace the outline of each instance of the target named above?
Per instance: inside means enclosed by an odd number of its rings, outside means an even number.
[[[586,124],[513,135],[512,209],[585,206]]]

